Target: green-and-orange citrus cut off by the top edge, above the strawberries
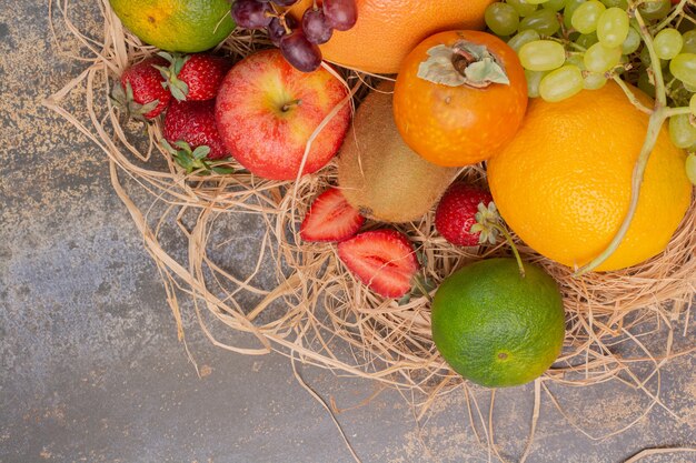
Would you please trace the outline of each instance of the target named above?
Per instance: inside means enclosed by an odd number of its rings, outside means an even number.
[[[235,29],[227,0],[110,0],[126,28],[162,50],[195,53]]]

